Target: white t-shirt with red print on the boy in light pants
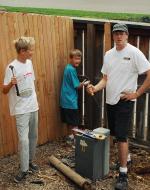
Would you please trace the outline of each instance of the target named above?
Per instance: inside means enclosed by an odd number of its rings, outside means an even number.
[[[9,84],[13,76],[9,68],[10,65],[14,67],[13,71],[17,77],[17,85],[20,93],[20,96],[17,96],[15,86],[13,86],[8,93],[10,114],[17,115],[37,111],[39,108],[31,60],[26,60],[26,63],[21,63],[15,59],[11,62],[6,68],[4,85]]]

